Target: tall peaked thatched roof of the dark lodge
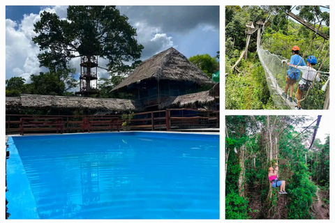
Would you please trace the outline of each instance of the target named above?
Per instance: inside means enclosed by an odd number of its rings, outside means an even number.
[[[177,49],[171,47],[143,61],[140,66],[135,68],[131,75],[118,86],[114,87],[112,91],[122,89],[144,79],[187,81],[194,82],[200,86],[214,84],[202,70],[188,61]]]

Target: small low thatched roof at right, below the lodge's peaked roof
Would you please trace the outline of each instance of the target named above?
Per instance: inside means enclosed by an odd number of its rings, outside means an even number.
[[[211,90],[209,90],[211,91]],[[165,109],[172,106],[177,107],[195,107],[195,105],[209,105],[215,102],[216,97],[211,95],[209,91],[201,91],[198,93],[188,93],[179,95],[177,98],[168,98],[162,102],[158,108]]]

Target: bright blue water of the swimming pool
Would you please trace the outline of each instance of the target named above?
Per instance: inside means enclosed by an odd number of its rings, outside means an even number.
[[[10,219],[218,219],[219,137],[13,137],[7,182]]]

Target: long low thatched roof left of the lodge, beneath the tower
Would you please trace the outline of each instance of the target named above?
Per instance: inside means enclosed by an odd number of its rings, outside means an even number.
[[[103,111],[144,111],[143,105],[137,100],[117,98],[84,98],[63,97],[54,95],[21,95],[20,97],[6,97],[6,109],[45,108],[58,109],[101,109]]]

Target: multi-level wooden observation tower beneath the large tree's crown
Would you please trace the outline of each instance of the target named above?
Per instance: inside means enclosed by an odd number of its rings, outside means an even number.
[[[82,56],[80,59],[80,90],[76,95],[89,97],[98,90],[98,56]]]

